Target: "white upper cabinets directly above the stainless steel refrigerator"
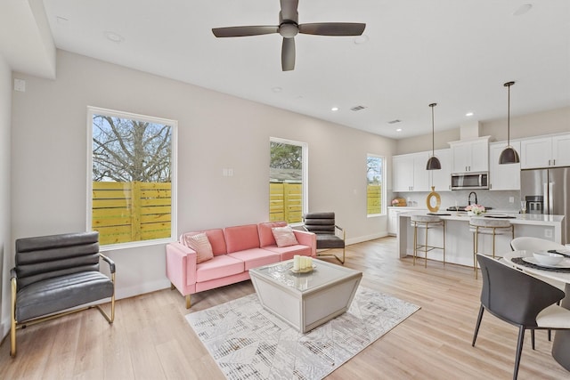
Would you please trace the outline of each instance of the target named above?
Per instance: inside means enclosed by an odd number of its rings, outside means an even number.
[[[521,141],[522,169],[570,166],[570,133]]]

